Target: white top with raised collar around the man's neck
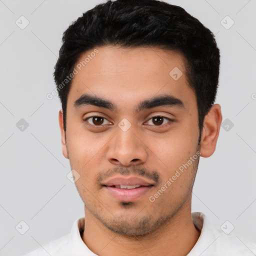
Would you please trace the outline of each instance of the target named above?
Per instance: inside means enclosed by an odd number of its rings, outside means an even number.
[[[192,212],[192,220],[200,236],[187,256],[254,256],[256,243],[244,240],[235,234],[226,234],[219,227],[210,224],[202,212]],[[71,232],[25,256],[95,256],[80,236],[84,217],[73,223]],[[224,225],[224,228],[226,226]]]

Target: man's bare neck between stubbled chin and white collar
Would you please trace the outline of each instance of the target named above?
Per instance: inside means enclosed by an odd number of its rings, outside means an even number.
[[[97,255],[187,255],[196,243],[200,231],[192,221],[191,203],[183,205],[164,226],[139,238],[120,235],[106,228],[85,208],[82,239]]]

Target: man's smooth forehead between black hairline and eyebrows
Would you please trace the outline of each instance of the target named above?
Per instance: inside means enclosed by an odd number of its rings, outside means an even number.
[[[182,98],[185,104],[196,100],[188,86],[183,56],[172,50],[102,46],[81,54],[75,68],[68,104],[84,93],[116,105],[166,93]]]

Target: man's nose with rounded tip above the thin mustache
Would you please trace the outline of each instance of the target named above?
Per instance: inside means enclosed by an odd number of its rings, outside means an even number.
[[[146,145],[131,127],[126,131],[117,128],[116,135],[109,141],[106,156],[110,163],[116,165],[143,164],[147,157]]]

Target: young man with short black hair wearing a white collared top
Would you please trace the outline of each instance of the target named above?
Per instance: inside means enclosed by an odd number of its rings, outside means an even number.
[[[191,213],[199,157],[213,154],[222,120],[211,31],[179,6],[109,0],[62,41],[54,72],[62,153],[85,217],[28,255],[256,253]]]

